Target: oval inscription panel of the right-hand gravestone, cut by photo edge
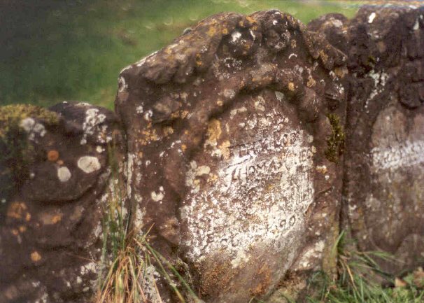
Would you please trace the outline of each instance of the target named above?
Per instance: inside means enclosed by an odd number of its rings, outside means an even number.
[[[365,220],[372,231],[364,236],[376,243],[397,249],[405,237],[400,230],[406,234],[405,227],[422,220],[423,129],[423,115],[411,118],[396,106],[376,119],[369,153],[372,188],[365,197]]]

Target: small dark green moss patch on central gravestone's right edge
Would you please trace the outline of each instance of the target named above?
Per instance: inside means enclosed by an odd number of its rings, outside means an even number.
[[[344,152],[344,130],[340,124],[340,118],[334,113],[327,115],[331,125],[331,135],[327,139],[327,150],[325,157],[331,162],[338,162],[340,155]]]

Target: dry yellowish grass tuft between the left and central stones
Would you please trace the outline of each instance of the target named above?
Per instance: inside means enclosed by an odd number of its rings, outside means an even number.
[[[164,281],[178,302],[201,303],[176,267],[150,246],[148,232],[130,230],[125,211],[123,183],[117,179],[118,164],[109,148],[112,182],[104,209],[103,249],[96,303],[162,302],[160,286]]]

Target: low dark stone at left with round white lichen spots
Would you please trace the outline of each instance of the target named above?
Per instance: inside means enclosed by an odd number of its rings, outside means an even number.
[[[0,302],[92,297],[116,122],[83,103],[0,108]]]

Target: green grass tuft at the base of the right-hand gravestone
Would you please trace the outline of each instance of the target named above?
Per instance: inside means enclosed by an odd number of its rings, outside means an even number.
[[[422,268],[402,279],[384,272],[376,260],[398,262],[381,251],[355,251],[342,232],[337,241],[339,277],[336,281],[316,272],[309,281],[314,295],[309,303],[420,303],[424,301]]]

